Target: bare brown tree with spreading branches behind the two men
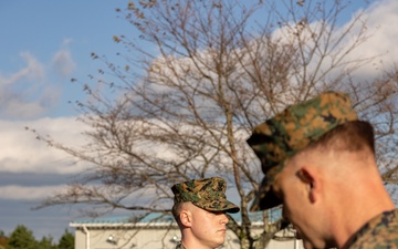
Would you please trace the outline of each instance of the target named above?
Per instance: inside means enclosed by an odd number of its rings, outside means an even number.
[[[217,175],[235,189],[241,222],[229,226],[241,248],[264,248],[283,225],[264,211],[263,234],[251,234],[248,209],[262,173],[245,139],[286,105],[326,90],[348,93],[375,125],[380,172],[397,184],[397,70],[355,76],[375,58],[350,56],[369,34],[360,13],[338,23],[348,6],[139,0],[117,10],[139,35],[114,37],[125,48],[117,63],[92,54],[106,69],[91,76],[96,87],[84,84],[90,98],[77,103],[88,143],[69,147],[38,134],[90,167],[39,208],[87,204],[97,214],[167,214],[172,184]]]

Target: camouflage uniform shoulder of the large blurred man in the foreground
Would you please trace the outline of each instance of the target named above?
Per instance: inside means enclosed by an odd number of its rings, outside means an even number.
[[[345,249],[398,249],[398,209],[385,211],[365,224]]]

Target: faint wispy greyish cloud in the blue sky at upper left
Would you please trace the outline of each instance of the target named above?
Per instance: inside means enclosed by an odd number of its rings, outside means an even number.
[[[70,39],[62,42],[46,65],[30,52],[21,52],[20,58],[25,65],[13,73],[0,72],[0,115],[3,118],[34,118],[56,106],[62,79],[71,76],[75,69],[70,50]],[[62,79],[51,79],[55,72]],[[67,79],[69,81],[69,79]]]

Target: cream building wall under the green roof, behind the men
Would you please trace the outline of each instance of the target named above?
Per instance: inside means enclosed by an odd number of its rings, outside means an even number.
[[[98,227],[87,229],[90,239],[82,228],[75,231],[75,249],[174,249],[180,240],[180,231],[172,228],[113,228]],[[255,229],[254,229],[254,232]],[[258,230],[260,232],[260,230]],[[109,237],[113,240],[109,240]],[[240,249],[239,241],[232,231],[227,231],[222,249]],[[271,240],[266,249],[303,249],[302,242],[290,240]]]

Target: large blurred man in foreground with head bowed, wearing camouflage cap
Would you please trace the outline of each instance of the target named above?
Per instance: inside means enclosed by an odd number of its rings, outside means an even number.
[[[376,165],[374,129],[347,95],[290,106],[248,144],[265,174],[251,210],[283,205],[306,249],[398,248],[398,209]]]

